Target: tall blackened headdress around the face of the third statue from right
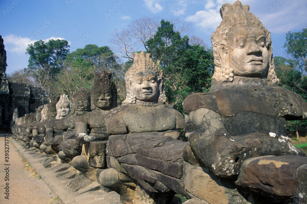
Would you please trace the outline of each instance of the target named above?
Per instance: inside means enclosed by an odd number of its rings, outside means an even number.
[[[98,87],[109,87],[113,92],[113,106],[111,108],[117,107],[117,88],[115,83],[111,80],[112,73],[102,70],[101,72],[95,72],[95,82],[91,88],[91,109],[94,110],[94,90]]]

